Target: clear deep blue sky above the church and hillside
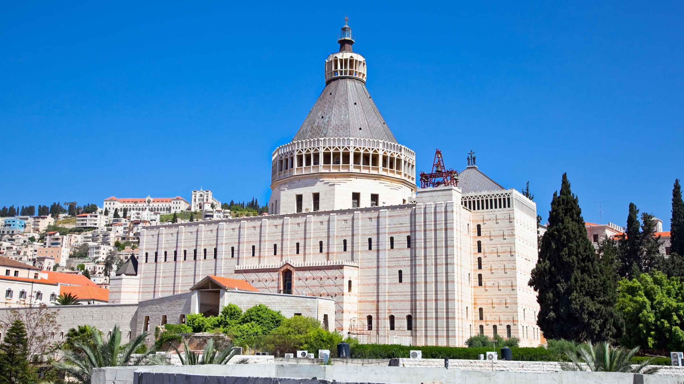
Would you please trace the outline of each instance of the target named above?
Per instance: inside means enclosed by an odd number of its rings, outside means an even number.
[[[212,189],[265,203],[271,153],[324,87],[345,14],[367,87],[428,170],[466,152],[547,219],[670,223],[684,176],[684,3],[11,2],[0,12],[0,206]],[[391,4],[391,5],[390,5]]]

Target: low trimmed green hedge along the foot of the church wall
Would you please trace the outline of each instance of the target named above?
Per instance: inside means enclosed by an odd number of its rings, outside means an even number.
[[[501,354],[500,348],[466,348],[457,346],[404,346],[399,344],[357,344],[351,348],[354,359],[394,359],[409,357],[409,351],[423,351],[423,359],[479,359],[489,351]],[[511,348],[517,361],[558,361],[560,357],[542,346],[536,348]]]

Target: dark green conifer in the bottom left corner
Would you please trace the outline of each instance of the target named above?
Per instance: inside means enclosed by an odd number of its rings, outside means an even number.
[[[29,350],[24,323],[14,320],[0,344],[0,382],[31,384],[38,381],[36,369],[29,366]]]

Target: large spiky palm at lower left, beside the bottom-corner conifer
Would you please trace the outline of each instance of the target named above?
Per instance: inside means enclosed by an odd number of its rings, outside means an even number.
[[[105,341],[101,332],[91,332],[90,340],[74,340],[72,349],[64,350],[64,359],[52,361],[52,366],[57,372],[64,372],[81,384],[90,384],[90,376],[94,368],[128,366],[131,355],[140,346],[144,345],[148,332],[143,332],[129,344],[121,345],[121,331],[118,325],[111,331],[111,335]],[[132,361],[133,366],[141,365],[165,365],[166,360],[155,355],[156,349],[142,353]]]

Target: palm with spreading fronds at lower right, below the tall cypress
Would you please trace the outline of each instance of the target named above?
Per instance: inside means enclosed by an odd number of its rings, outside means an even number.
[[[627,350],[620,346],[611,346],[607,342],[592,342],[579,346],[579,351],[566,351],[568,362],[562,362],[563,370],[590,370],[592,372],[631,372],[650,374],[657,372],[660,367],[650,366],[652,359],[646,359],[641,364],[631,364],[631,359],[639,347]],[[585,369],[586,368],[586,369]],[[644,370],[644,368],[646,368]]]

